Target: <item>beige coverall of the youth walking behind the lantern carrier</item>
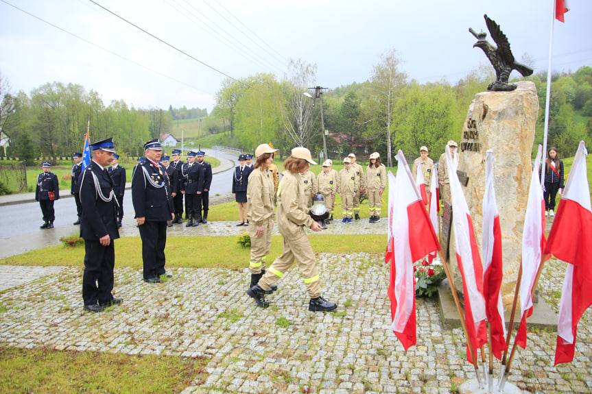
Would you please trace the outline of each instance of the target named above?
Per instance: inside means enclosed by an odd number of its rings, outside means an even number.
[[[251,238],[251,256],[249,271],[261,273],[265,269],[265,258],[272,246],[274,223],[274,183],[271,171],[254,169],[249,175],[247,186],[249,236]],[[257,237],[257,226],[263,225],[263,236]]]

